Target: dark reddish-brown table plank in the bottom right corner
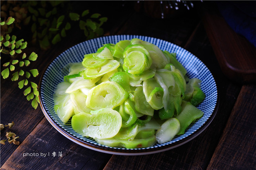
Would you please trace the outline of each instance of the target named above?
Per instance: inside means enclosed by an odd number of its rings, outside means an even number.
[[[209,170],[256,167],[256,85],[244,85],[216,147]]]

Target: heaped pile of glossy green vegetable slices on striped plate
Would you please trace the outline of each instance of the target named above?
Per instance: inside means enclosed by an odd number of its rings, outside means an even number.
[[[55,112],[74,131],[111,147],[166,143],[203,112],[198,78],[189,79],[175,53],[140,39],[105,44],[72,63],[57,85]]]

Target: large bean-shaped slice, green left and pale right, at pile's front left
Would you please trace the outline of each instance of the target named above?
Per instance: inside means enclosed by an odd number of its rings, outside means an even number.
[[[107,139],[115,136],[121,126],[122,117],[113,109],[100,109],[88,113],[79,113],[72,117],[71,125],[74,131],[82,136],[97,139]]]

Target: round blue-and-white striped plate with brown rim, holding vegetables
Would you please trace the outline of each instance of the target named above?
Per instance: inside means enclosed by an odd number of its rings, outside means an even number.
[[[98,144],[94,139],[89,137],[82,137],[76,133],[71,127],[71,119],[67,124],[63,124],[58,118],[53,107],[53,93],[58,83],[63,81],[63,76],[68,74],[68,68],[65,67],[68,63],[81,62],[84,58],[84,54],[95,53],[102,44],[113,43],[125,39],[139,38],[143,41],[148,41],[162,50],[167,50],[171,53],[177,53],[177,60],[186,68],[187,76],[189,78],[199,78],[201,82],[201,89],[206,94],[204,101],[199,104],[198,109],[204,112],[203,117],[198,119],[196,122],[192,123],[186,130],[186,133],[180,136],[175,136],[172,141],[167,143],[158,144],[148,148],[137,148],[137,149],[126,149],[126,148],[114,148]],[[40,80],[40,105],[45,117],[52,124],[52,126],[57,129],[61,134],[63,134],[68,139],[74,141],[75,143],[82,145],[86,148],[92,150],[111,153],[117,155],[146,155],[151,153],[158,153],[166,150],[170,150],[177,146],[183,145],[188,141],[192,140],[196,136],[206,129],[206,127],[213,120],[217,109],[217,87],[213,75],[209,69],[200,61],[196,56],[189,53],[185,49],[172,44],[161,39],[156,39],[153,37],[146,36],[134,36],[134,35],[117,35],[117,36],[107,36],[99,37],[96,39],[91,39],[89,41],[82,42],[76,46],[67,49],[57,58],[55,58],[52,63],[44,71]]]

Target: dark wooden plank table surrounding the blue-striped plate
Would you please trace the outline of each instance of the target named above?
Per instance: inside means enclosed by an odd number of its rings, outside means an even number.
[[[96,6],[95,4],[84,5],[84,8],[95,11],[99,9],[101,10],[99,13],[108,17],[108,22],[104,25],[105,35],[136,34],[156,37],[187,49],[203,61],[215,77],[218,87],[219,109],[213,122],[192,141],[172,150],[142,156],[110,155],[89,150],[62,136],[46,120],[40,107],[36,110],[31,107],[17,87],[17,83],[1,78],[1,123],[7,124],[14,121],[15,126],[12,131],[20,137],[21,142],[20,145],[9,143],[1,145],[1,169],[255,169],[256,85],[253,81],[235,81],[234,77],[228,74],[234,73],[232,72],[234,70],[225,69],[225,64],[220,62],[223,58],[229,58],[228,55],[237,50],[238,55],[248,55],[251,58],[249,61],[252,62],[249,62],[249,65],[254,64],[255,47],[229,28],[222,16],[218,14],[218,9],[213,8],[209,12],[205,10],[204,4],[161,19],[154,18],[158,17],[157,14],[160,12],[158,9],[160,6],[156,2],[151,2],[156,9],[151,10],[152,12],[143,10],[143,7],[152,7],[152,4],[140,5],[136,4],[137,1],[97,3],[99,3],[98,6],[97,4]],[[155,16],[149,14],[155,14]],[[218,27],[220,23],[221,26]],[[230,36],[236,37],[232,38],[232,43],[223,43],[230,41]],[[42,73],[53,58],[82,41],[85,41],[84,37],[74,28],[74,31],[62,42],[47,51],[37,46],[30,46],[28,50],[38,54],[34,67]],[[234,48],[237,44],[241,48]],[[239,57],[243,58],[243,56]],[[39,77],[36,81],[39,82]],[[1,139],[4,138],[5,131],[7,130],[1,131]],[[52,156],[53,152],[56,152],[57,156]],[[59,152],[62,156],[58,156]],[[39,155],[36,156],[36,153]],[[44,157],[40,155],[41,153],[50,153],[50,155]]]

